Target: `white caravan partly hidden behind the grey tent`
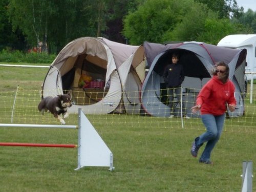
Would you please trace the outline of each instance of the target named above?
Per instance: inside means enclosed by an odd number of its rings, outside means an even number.
[[[218,46],[228,47],[233,49],[246,49],[246,72],[256,73],[256,34],[237,34],[228,35],[220,40]],[[250,79],[251,75],[247,74],[247,78]],[[253,75],[256,78],[256,74]]]

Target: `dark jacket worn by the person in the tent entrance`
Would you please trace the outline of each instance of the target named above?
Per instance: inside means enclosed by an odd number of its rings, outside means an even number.
[[[163,79],[167,88],[180,87],[185,78],[183,66],[180,63],[168,64],[163,72]]]

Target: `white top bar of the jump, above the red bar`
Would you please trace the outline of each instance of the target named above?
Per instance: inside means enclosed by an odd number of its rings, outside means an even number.
[[[0,123],[0,127],[34,127],[34,128],[66,128],[78,129],[78,125],[48,125],[48,124],[13,124],[13,123]]]

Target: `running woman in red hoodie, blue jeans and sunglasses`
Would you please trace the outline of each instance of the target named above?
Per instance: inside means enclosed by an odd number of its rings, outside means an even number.
[[[217,63],[213,77],[202,88],[196,105],[191,108],[193,113],[201,111],[201,119],[206,127],[206,132],[195,139],[190,151],[193,157],[197,157],[199,148],[207,142],[199,159],[200,163],[212,164],[210,154],[220,139],[227,106],[233,112],[237,104],[234,98],[235,88],[228,76],[228,65],[225,62]]]

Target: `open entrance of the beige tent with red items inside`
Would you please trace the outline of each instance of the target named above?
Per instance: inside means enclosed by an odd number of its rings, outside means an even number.
[[[79,55],[74,67],[62,76],[62,89],[72,90],[76,105],[99,102],[109,91],[109,84],[105,86],[106,65],[107,61],[97,56]]]

